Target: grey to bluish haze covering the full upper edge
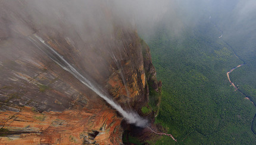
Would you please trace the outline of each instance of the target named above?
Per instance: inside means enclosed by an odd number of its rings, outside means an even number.
[[[105,36],[111,35],[113,22],[127,27],[133,26],[134,29],[148,34],[152,34],[149,33],[151,31],[154,33],[155,27],[163,23],[169,24],[168,27],[176,30],[175,34],[179,34],[183,28],[195,27],[203,18],[209,16],[218,24],[224,25],[224,28],[227,25],[242,25],[255,17],[256,5],[253,0],[61,1],[61,4],[60,1],[26,1],[26,3],[27,5],[20,7],[14,1],[1,2],[1,5],[13,10],[8,15],[22,19],[22,21],[11,20],[12,25],[28,27],[24,22],[29,21],[42,30],[52,27],[63,31],[63,28],[68,27],[69,29],[65,31],[70,34],[78,33],[83,41],[95,41],[99,33]],[[4,14],[5,11],[2,12],[2,18],[10,17]],[[225,21],[227,18],[229,21]]]

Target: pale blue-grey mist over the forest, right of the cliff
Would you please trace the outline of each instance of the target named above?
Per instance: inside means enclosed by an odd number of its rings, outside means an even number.
[[[137,4],[132,5],[132,9],[136,13],[136,27],[144,37],[154,35],[159,27],[166,27],[171,36],[180,37],[186,29],[193,30],[209,17],[224,31],[224,39],[241,34],[254,37],[256,31],[253,27],[256,2],[253,0],[139,1]]]

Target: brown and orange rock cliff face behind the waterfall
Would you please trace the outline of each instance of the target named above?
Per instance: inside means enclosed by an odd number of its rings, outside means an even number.
[[[0,2],[0,144],[120,144],[120,114],[28,38],[42,37],[121,107],[141,115],[148,107],[152,117],[149,93],[161,84],[148,46],[106,4],[95,21],[107,24],[96,28],[86,21],[90,16],[67,20],[57,4],[46,4],[42,12],[30,1]],[[85,21],[74,22],[80,18]]]

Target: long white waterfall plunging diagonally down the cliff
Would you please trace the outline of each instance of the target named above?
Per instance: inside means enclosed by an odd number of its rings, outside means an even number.
[[[80,80],[80,82],[82,82],[84,85],[88,86],[88,88],[92,89],[92,91],[94,91],[97,95],[99,95],[102,99],[104,99],[114,109],[116,109],[128,123],[135,124],[138,127],[146,127],[148,120],[145,120],[144,118],[140,117],[136,112],[124,111],[124,109],[121,108],[120,105],[116,104],[113,101],[113,99],[111,99],[108,94],[106,94],[104,91],[102,91],[102,89],[96,83],[93,84],[88,79],[86,79],[83,75],[81,75],[79,72],[77,72],[77,70],[74,69],[74,67],[71,66],[70,63],[68,63],[63,58],[63,56],[61,56],[59,53],[57,53],[57,51],[52,49],[52,47],[48,46],[48,44],[46,44],[42,38],[40,38],[36,34],[33,34],[33,36],[29,37],[29,40],[32,41],[32,43],[35,44],[35,46],[38,47],[38,49],[43,51],[43,53],[45,53],[55,63],[57,63],[59,66],[61,66],[64,70],[67,70],[67,72],[70,72],[74,77],[76,77],[78,80]]]

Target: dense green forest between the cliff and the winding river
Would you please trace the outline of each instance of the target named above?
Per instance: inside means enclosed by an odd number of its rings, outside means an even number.
[[[141,34],[163,81],[156,123],[166,127],[177,144],[256,144],[251,130],[256,109],[226,76],[243,62],[219,34],[207,19],[196,27],[185,25],[179,35],[167,23],[151,37]],[[170,137],[157,141],[170,143],[176,142]]]

